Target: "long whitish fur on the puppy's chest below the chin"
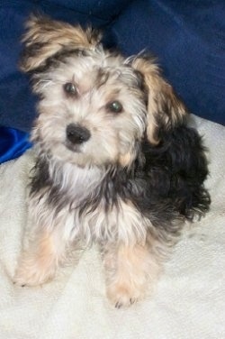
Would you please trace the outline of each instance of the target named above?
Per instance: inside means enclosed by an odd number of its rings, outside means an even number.
[[[58,228],[65,241],[145,242],[150,222],[129,201],[118,197],[116,204],[105,208],[105,198],[101,197],[92,208],[92,197],[93,200],[96,198],[106,174],[105,170],[96,167],[84,169],[64,164],[58,168],[51,165],[49,175],[58,186],[56,201],[63,207],[58,210],[57,204],[49,206],[49,188],[44,194],[40,192],[42,197],[35,196],[30,202],[36,206],[35,224],[50,230]],[[79,206],[85,206],[85,199],[89,200],[89,206],[81,212]]]

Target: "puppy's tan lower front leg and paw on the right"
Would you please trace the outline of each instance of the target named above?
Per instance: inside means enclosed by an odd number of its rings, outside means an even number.
[[[115,307],[142,299],[157,279],[160,266],[148,244],[108,245],[103,251],[106,293]]]

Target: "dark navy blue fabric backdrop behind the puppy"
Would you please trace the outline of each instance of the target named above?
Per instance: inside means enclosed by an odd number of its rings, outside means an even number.
[[[225,124],[224,0],[1,0],[0,125],[30,132],[35,116],[29,80],[17,69],[31,12],[92,23],[127,55],[151,50],[190,111]]]

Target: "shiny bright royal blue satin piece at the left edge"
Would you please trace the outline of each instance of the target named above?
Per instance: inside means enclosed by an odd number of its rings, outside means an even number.
[[[0,126],[0,164],[19,157],[30,147],[28,133]]]

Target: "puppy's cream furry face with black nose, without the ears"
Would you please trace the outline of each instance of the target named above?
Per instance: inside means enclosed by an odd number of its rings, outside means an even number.
[[[39,77],[39,76],[38,76]],[[43,72],[34,139],[60,160],[127,165],[146,125],[137,72],[102,51],[73,54]]]

